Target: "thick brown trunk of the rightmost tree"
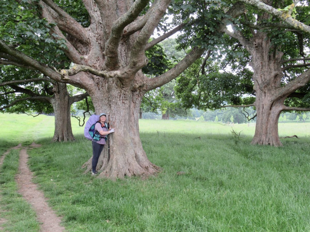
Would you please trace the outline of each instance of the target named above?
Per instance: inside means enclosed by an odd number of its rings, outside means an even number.
[[[282,52],[270,53],[272,45],[268,35],[257,33],[250,53],[255,90],[256,127],[251,144],[282,146],[278,134],[278,120],[285,97],[280,96]]]

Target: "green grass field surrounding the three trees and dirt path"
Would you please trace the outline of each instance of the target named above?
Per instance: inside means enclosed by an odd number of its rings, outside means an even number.
[[[50,143],[51,116],[0,114],[0,120],[1,154],[19,142],[42,144],[29,151],[29,165],[68,231],[310,231],[309,122],[280,123],[280,136],[300,139],[282,139],[284,146],[273,148],[249,145],[255,127],[246,124],[234,125],[242,131],[235,138],[218,123],[140,120],[144,150],[162,171],[112,182],[83,174],[91,143],[74,119],[72,143]],[[12,131],[18,137],[7,136]],[[0,170],[2,227],[38,231],[16,193],[16,154]],[[30,212],[25,221],[15,217],[22,212]]]

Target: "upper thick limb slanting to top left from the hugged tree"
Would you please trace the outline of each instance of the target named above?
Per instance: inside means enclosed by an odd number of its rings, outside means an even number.
[[[67,14],[63,9],[61,9],[57,4],[51,0],[42,0],[45,4],[51,7],[60,17],[55,17],[54,20],[58,24],[60,30],[70,34],[71,36],[77,38],[84,43],[88,42],[85,28],[81,26],[71,15]]]

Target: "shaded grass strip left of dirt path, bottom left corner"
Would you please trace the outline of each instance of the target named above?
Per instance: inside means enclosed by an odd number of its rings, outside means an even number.
[[[18,158],[19,151],[11,150],[0,167],[0,218],[6,219],[1,227],[4,231],[39,231],[35,212],[17,193]]]

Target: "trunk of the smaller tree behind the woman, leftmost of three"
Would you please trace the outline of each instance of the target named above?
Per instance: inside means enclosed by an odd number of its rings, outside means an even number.
[[[54,84],[53,92],[54,96],[51,99],[51,104],[55,112],[55,131],[52,141],[72,141],[74,137],[70,116],[71,103],[69,102],[69,93],[66,84]]]

